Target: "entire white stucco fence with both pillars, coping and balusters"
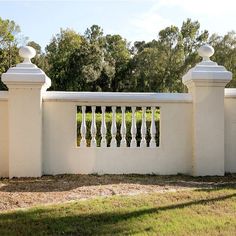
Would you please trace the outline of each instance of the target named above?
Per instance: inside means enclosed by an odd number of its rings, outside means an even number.
[[[235,173],[236,89],[225,89],[232,74],[209,59],[213,53],[209,45],[199,49],[202,62],[183,77],[189,93],[49,92],[46,90],[51,85],[50,79],[30,61],[35,50],[22,47],[23,63],[2,75],[8,91],[0,91],[0,177],[64,173],[194,176]],[[82,111],[78,128],[77,107]],[[92,121],[88,126],[90,107]],[[106,125],[107,107],[111,107],[110,130]],[[137,108],[141,108],[142,114],[140,143],[137,142]],[[160,109],[159,128],[157,108]],[[96,109],[101,109],[99,130]],[[121,109],[119,130],[116,109]],[[131,113],[130,130],[126,127],[126,110]],[[151,113],[149,123],[147,111]],[[77,130],[81,136],[79,145]],[[90,140],[86,138],[88,133]],[[117,140],[118,133],[121,140]],[[98,136],[101,136],[99,146]]]

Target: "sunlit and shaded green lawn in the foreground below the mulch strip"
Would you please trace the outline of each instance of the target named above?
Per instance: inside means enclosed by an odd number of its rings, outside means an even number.
[[[0,214],[0,235],[235,235],[236,189],[113,196]]]

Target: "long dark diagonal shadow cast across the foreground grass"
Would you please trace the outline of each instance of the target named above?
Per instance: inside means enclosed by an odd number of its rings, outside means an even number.
[[[146,225],[148,226],[145,226],[146,228],[144,226],[133,226],[133,219],[138,220],[139,217],[141,219],[144,215],[158,214],[162,211],[211,204],[233,197],[236,197],[236,194],[156,208],[139,209],[131,212],[127,209],[126,211],[75,214],[76,210],[78,210],[76,208],[79,208],[79,205],[74,203],[71,205],[72,210],[68,212],[67,206],[64,206],[4,213],[0,214],[0,235],[31,235],[32,233],[34,235],[127,235],[130,233],[145,233],[145,231],[151,229],[150,225]]]

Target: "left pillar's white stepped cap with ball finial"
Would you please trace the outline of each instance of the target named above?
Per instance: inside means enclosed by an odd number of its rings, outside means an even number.
[[[47,90],[51,86],[51,80],[47,75],[31,62],[31,59],[36,55],[34,48],[24,46],[19,49],[19,55],[24,59],[22,63],[8,69],[2,74],[2,82],[7,87],[43,87]]]

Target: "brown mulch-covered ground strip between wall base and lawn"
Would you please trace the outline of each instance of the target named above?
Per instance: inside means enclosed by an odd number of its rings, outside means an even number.
[[[0,179],[0,211],[98,196],[136,195],[226,186],[236,188],[236,175],[202,178],[182,175],[57,175]]]

